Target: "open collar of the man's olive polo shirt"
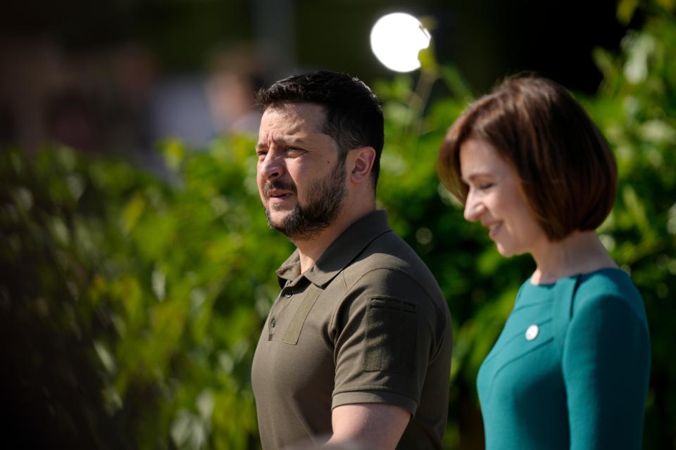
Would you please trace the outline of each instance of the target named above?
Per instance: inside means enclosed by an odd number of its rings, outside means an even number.
[[[387,212],[384,210],[370,212],[343,231],[303,276],[320,288],[325,288],[367,245],[389,231],[392,229],[387,222]],[[284,287],[287,280],[294,280],[300,274],[299,252],[296,249],[277,270],[280,288]]]

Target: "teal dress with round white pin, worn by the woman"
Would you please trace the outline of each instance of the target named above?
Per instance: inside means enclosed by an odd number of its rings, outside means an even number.
[[[477,378],[486,449],[640,449],[649,374],[624,271],[528,280]]]

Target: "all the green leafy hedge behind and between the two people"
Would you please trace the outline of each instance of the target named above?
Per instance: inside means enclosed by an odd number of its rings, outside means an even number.
[[[620,15],[635,6],[623,1]],[[674,16],[654,8],[620,55],[596,52],[603,85],[580,98],[618,158],[618,200],[601,239],[632,274],[649,315],[649,449],[676,448],[673,42]],[[453,95],[425,107],[434,82]],[[476,373],[534,265],[500,257],[437,180],[439,143],[472,98],[458,71],[430,63],[417,86],[397,77],[375,90],[387,119],[380,206],[437,276],[454,321],[445,444],[482,448]],[[265,223],[253,144],[226,136],[198,153],[167,141],[168,179],[68,148],[0,154],[7,440],[87,449],[260,446],[251,358],[277,294],[274,270],[292,245]]]

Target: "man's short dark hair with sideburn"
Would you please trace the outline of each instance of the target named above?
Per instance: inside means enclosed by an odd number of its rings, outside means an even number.
[[[319,131],[336,141],[340,160],[344,160],[353,148],[368,146],[375,149],[371,169],[375,191],[380,173],[384,124],[382,108],[373,91],[357,77],[320,70],[280,79],[256,94],[256,104],[261,113],[270,107],[289,103],[323,106],[324,123]]]

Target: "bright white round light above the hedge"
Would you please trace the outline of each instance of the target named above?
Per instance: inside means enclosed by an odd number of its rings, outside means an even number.
[[[406,13],[382,16],[371,30],[371,49],[389,70],[411,72],[420,68],[418,53],[430,46],[430,32]]]

